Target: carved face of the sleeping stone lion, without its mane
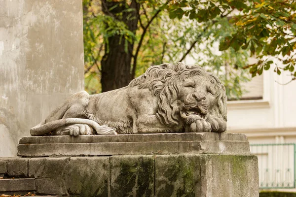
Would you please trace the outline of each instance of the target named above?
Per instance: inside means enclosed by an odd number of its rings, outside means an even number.
[[[208,77],[185,79],[178,94],[180,115],[187,124],[196,120],[207,120],[209,110],[216,101],[215,86]]]

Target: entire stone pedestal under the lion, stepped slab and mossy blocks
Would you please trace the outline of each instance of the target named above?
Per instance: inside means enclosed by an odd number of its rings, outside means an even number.
[[[258,160],[243,134],[24,137],[18,155],[30,157],[38,194],[259,197]]]

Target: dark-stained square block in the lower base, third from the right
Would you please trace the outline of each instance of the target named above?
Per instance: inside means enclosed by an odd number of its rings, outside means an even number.
[[[153,197],[153,156],[112,156],[111,197]]]

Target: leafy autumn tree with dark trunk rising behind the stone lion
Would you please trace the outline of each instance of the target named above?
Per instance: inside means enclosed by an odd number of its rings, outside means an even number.
[[[200,53],[207,58],[193,56],[197,64],[233,73],[223,79],[229,97],[242,93],[243,68],[261,74],[269,57],[285,65],[275,65],[278,74],[296,78],[294,0],[83,0],[83,7],[86,84],[102,76],[102,91],[126,86],[153,64]],[[217,43],[220,55],[212,53]],[[258,63],[247,65],[249,55]]]

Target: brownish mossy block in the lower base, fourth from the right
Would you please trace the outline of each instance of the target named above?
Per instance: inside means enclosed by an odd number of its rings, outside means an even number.
[[[109,157],[72,157],[69,168],[71,196],[108,197]]]

